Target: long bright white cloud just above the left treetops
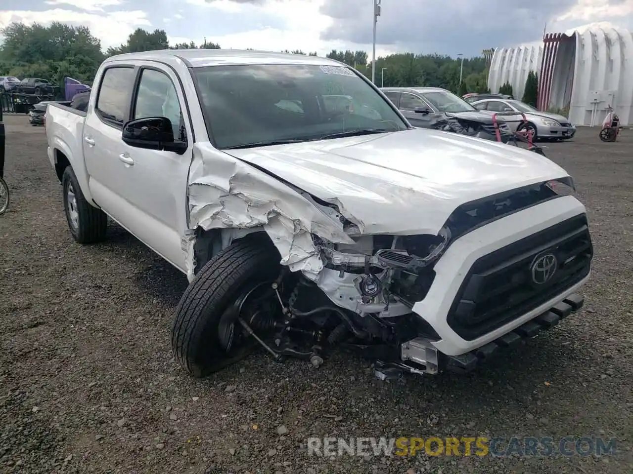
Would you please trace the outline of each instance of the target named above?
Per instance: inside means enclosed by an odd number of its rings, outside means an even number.
[[[127,39],[135,28],[151,27],[147,13],[141,10],[113,11],[108,13],[87,13],[56,8],[46,11],[3,10],[0,11],[0,28],[7,27],[13,21],[22,21],[26,25],[41,23],[49,25],[53,21],[82,25],[90,28],[93,35],[101,39],[101,47],[118,46]]]

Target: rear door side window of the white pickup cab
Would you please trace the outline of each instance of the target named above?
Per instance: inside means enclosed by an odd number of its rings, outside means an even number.
[[[130,103],[133,68],[108,68],[103,73],[95,110],[102,119],[123,125]]]

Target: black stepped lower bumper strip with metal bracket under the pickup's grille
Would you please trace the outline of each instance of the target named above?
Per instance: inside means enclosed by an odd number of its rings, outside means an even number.
[[[527,339],[536,337],[541,331],[554,327],[561,320],[582,308],[584,298],[577,293],[567,296],[548,311],[536,318],[520,325],[494,341],[480,348],[473,349],[458,356],[447,356],[435,348],[431,341],[422,337],[412,339],[401,346],[402,362],[376,364],[376,375],[385,379],[399,372],[411,374],[438,374],[439,372],[454,372],[467,374],[497,356],[503,356],[506,349],[525,343]]]

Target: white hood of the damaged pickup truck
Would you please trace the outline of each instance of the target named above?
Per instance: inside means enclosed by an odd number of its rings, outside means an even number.
[[[461,204],[568,176],[534,152],[435,130],[225,152],[336,204],[363,234],[437,234]]]

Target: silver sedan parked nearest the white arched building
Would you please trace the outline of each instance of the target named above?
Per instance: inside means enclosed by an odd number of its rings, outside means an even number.
[[[541,112],[520,100],[486,99],[473,102],[472,105],[482,111],[525,114],[525,118],[528,121],[527,125],[523,123],[510,125],[516,126],[515,130],[530,131],[532,140],[537,140],[538,138],[559,138],[564,140],[572,138],[576,133],[576,127],[566,117],[559,114]]]

